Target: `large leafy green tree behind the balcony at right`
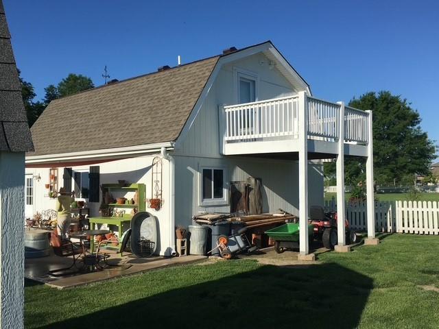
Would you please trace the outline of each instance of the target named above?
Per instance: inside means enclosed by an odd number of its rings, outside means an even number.
[[[427,175],[436,158],[436,145],[420,129],[419,113],[407,99],[388,91],[366,93],[352,99],[349,106],[372,110],[374,176],[377,184],[407,184],[415,174]],[[345,160],[345,180],[348,185],[364,181],[364,159]],[[325,175],[335,173],[335,163],[325,165]]]

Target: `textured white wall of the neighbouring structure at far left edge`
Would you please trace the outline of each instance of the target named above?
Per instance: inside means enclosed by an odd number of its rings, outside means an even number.
[[[0,152],[1,328],[23,328],[25,154]]]

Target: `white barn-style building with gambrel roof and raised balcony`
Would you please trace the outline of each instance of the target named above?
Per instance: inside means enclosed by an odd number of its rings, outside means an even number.
[[[54,207],[45,189],[54,173],[57,188],[75,186],[94,214],[100,184],[144,183],[147,199],[157,189],[162,199],[160,210],[150,210],[161,255],[174,251],[175,227],[188,226],[193,215],[230,212],[230,183],[248,177],[261,179],[264,212],[282,208],[300,217],[302,256],[309,254],[309,205],[324,202],[320,159],[337,158],[343,191],[344,156],[368,158],[373,196],[371,112],[313,97],[270,41],[56,99],[32,136],[26,175],[42,179],[26,180],[34,184],[28,215]],[[157,156],[160,179],[153,178]],[[344,202],[337,204],[344,223]],[[368,236],[375,238],[373,197],[368,207]],[[340,225],[340,246],[344,230]]]

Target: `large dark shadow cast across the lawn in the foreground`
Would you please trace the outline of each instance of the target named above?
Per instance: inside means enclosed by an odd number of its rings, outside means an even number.
[[[356,328],[370,289],[335,263],[268,265],[40,328]]]

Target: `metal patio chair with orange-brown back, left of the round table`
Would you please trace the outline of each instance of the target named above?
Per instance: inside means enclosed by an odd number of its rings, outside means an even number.
[[[68,276],[70,274],[77,273],[78,269],[75,267],[75,265],[78,257],[75,257],[75,255],[84,253],[82,246],[78,245],[78,243],[73,243],[70,240],[61,239],[61,236],[58,235],[57,230],[51,232],[50,244],[54,249],[54,253],[56,254],[56,256],[60,256],[60,257],[72,256],[73,260],[69,267],[52,269],[49,271],[49,275],[56,277],[56,276]],[[73,267],[75,268],[73,269]]]

